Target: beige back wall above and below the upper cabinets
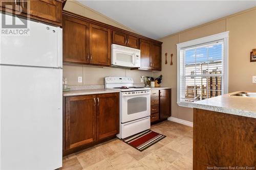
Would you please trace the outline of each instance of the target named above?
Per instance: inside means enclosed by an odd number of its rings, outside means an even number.
[[[107,23],[109,25],[134,32],[133,30],[121,25],[120,23],[94,11],[75,1],[67,1],[64,10]],[[83,82],[78,83],[78,76],[82,76]],[[107,76],[127,76],[132,77],[135,83],[140,84],[141,76],[152,76],[151,71],[130,70],[125,68],[113,67],[94,67],[80,65],[63,65],[63,77],[68,79],[68,85],[103,85],[104,77]],[[143,84],[143,83],[141,83]]]

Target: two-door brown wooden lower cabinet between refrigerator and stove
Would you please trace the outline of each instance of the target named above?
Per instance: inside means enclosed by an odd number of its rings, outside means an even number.
[[[119,133],[119,93],[69,96],[63,102],[63,155]]]

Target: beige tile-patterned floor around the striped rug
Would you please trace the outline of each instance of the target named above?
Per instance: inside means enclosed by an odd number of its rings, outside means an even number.
[[[192,169],[193,128],[165,121],[151,130],[166,137],[143,152],[116,138],[64,157],[60,169]]]

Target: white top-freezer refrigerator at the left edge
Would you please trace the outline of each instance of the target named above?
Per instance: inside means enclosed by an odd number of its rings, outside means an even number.
[[[28,22],[1,36],[0,169],[62,166],[62,29]]]

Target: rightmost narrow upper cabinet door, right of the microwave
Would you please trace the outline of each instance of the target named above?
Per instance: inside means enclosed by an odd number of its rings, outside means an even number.
[[[151,63],[153,70],[161,70],[161,44],[151,43]]]

